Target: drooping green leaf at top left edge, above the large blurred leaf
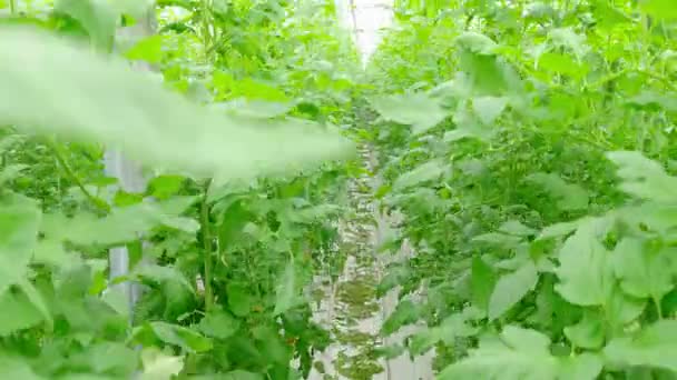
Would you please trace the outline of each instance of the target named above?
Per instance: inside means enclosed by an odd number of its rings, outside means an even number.
[[[117,14],[108,0],[57,0],[55,11],[77,20],[102,51],[112,47]]]

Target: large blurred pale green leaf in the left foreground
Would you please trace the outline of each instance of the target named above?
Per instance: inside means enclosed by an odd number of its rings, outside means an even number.
[[[288,172],[354,151],[334,128],[219,114],[121,60],[45,32],[6,26],[0,51],[0,124],[100,141],[141,163],[223,179]]]

